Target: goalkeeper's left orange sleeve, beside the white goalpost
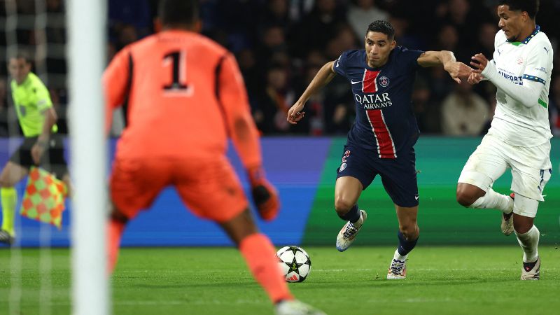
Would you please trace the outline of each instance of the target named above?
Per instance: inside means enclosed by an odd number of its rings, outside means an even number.
[[[109,131],[113,110],[123,105],[130,77],[130,50],[120,50],[103,73],[105,97],[105,128]]]

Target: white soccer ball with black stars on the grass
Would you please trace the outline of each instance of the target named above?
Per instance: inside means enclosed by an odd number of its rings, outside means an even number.
[[[276,252],[278,265],[288,282],[302,282],[311,272],[309,255],[298,246],[284,246]]]

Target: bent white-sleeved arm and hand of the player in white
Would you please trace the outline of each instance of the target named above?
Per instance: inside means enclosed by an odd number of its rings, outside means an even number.
[[[472,66],[475,67],[472,73],[477,73],[491,81],[496,87],[503,90],[505,94],[523,104],[527,108],[531,108],[538,104],[540,91],[544,88],[544,83],[535,82],[533,80],[523,80],[523,85],[515,84],[512,80],[507,80],[498,73],[496,65],[489,62],[482,53],[472,56]]]

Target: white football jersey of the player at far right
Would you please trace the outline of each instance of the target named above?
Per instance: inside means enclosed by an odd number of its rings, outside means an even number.
[[[489,134],[512,146],[539,146],[552,138],[548,120],[548,91],[552,76],[552,45],[537,26],[522,42],[510,42],[503,31],[494,41],[493,62],[503,78],[517,85],[532,80],[542,83],[535,106],[526,107],[503,90],[496,92],[496,113]],[[538,85],[540,86],[540,85]],[[519,98],[519,97],[518,97]],[[533,100],[528,100],[533,102]]]

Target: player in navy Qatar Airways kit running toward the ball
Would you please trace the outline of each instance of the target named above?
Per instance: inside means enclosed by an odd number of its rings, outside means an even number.
[[[419,66],[442,65],[451,78],[461,83],[460,78],[468,78],[471,69],[456,62],[453,52],[396,47],[394,34],[388,22],[370,24],[365,50],[348,50],[325,64],[288,111],[287,119],[292,124],[300,121],[305,115],[302,110],[307,99],[336,74],[349,80],[356,104],[356,123],[348,134],[342,164],[337,169],[335,210],[348,222],[340,230],[336,246],[339,251],[345,251],[356,239],[367,218],[356,202],[379,174],[395,204],[399,223],[399,246],[387,279],[404,279],[407,255],[419,236],[414,144],[420,132],[411,102],[416,70]]]

